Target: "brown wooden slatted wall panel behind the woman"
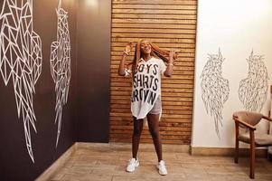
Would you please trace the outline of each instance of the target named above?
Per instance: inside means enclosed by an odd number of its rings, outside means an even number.
[[[162,82],[163,142],[191,143],[196,14],[197,0],[112,0],[110,141],[131,142],[133,131],[131,79],[117,75],[124,47],[128,42],[135,45],[139,39],[149,39],[179,54],[174,75]],[[133,55],[130,53],[127,62],[132,61]],[[141,142],[152,142],[148,128],[144,129]]]

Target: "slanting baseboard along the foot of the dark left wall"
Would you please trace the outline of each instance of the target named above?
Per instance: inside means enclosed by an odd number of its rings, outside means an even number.
[[[35,181],[47,181],[50,180],[50,178],[52,176],[54,176],[54,174],[56,172],[58,172],[58,170],[63,167],[63,165],[65,164],[65,162],[70,158],[70,156],[72,154],[74,154],[77,150],[77,143],[74,143],[67,151],[65,151],[65,153],[63,153],[61,155],[61,157],[59,157],[53,164],[51,167],[47,168],[41,176],[39,176],[38,178],[35,179]]]

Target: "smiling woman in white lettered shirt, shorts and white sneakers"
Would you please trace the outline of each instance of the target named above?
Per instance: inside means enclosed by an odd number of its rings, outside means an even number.
[[[162,113],[161,75],[170,77],[173,72],[175,52],[163,51],[154,43],[140,40],[136,44],[134,61],[125,68],[127,55],[132,50],[132,43],[127,43],[123,58],[120,61],[118,74],[132,76],[133,91],[131,97],[131,111],[134,118],[134,132],[132,137],[132,158],[127,165],[127,172],[135,171],[139,166],[137,151],[143,130],[144,118],[147,118],[149,131],[155,145],[158,157],[160,175],[166,175],[167,170],[162,154],[162,143],[159,134],[159,119]],[[167,62],[165,66],[164,62]]]

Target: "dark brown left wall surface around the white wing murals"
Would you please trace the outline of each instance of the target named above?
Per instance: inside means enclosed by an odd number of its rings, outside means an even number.
[[[2,9],[4,1],[0,1]],[[17,2],[21,2],[17,1]],[[76,141],[76,0],[62,0],[69,12],[71,44],[71,79],[68,102],[63,106],[61,136],[56,148],[55,84],[50,71],[51,43],[57,37],[58,0],[33,0],[33,31],[42,40],[42,74],[35,84],[33,110],[37,133],[31,128],[33,157],[29,157],[23,131],[23,119],[18,118],[12,80],[5,86],[0,76],[0,180],[33,180],[49,167]],[[1,23],[0,23],[1,26]]]

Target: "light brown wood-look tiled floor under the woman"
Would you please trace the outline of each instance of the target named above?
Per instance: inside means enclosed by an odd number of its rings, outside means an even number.
[[[245,181],[249,179],[249,159],[242,157],[239,164],[232,157],[197,157],[179,152],[177,146],[164,145],[167,176],[160,176],[152,145],[140,145],[140,166],[134,173],[125,171],[131,157],[130,146],[122,144],[94,144],[79,148],[52,180],[89,181]],[[173,149],[171,149],[173,148]],[[256,181],[272,181],[272,163],[258,158]]]

